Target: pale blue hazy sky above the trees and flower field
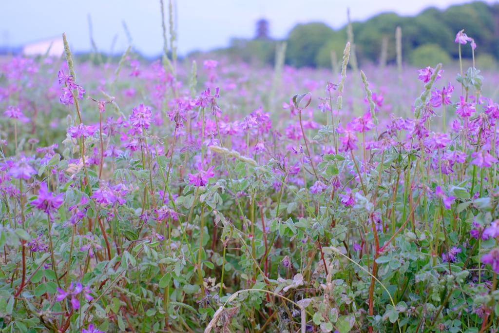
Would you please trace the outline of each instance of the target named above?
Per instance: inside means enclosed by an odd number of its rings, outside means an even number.
[[[166,4],[168,20],[169,0]],[[297,23],[320,21],[340,28],[350,8],[353,21],[364,21],[381,12],[416,15],[429,6],[445,9],[466,0],[176,0],[178,53],[225,47],[231,38],[251,38],[259,18],[269,21],[271,37],[285,38]],[[494,2],[488,0],[487,2]],[[66,33],[73,51],[91,48],[88,15],[97,49],[114,53],[128,47],[126,23],[132,46],[146,56],[163,49],[159,0],[0,0],[0,46],[18,47]],[[168,26],[167,26],[168,29]]]

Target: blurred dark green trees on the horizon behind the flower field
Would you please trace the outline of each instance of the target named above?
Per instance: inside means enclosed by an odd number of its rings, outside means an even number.
[[[378,63],[383,39],[388,41],[387,63],[396,61],[395,29],[402,28],[402,54],[405,62],[415,66],[449,63],[459,57],[454,42],[456,33],[465,29],[477,43],[477,63],[496,69],[499,59],[499,3],[474,1],[450,6],[445,10],[430,7],[417,16],[381,13],[365,22],[353,22],[352,28],[359,65]],[[273,64],[278,40],[260,35],[254,39],[235,38],[227,48],[214,53],[246,62]],[[286,64],[296,67],[331,67],[331,51],[337,59],[343,56],[347,41],[346,26],[334,30],[321,22],[297,24],[287,36]],[[472,57],[471,47],[463,47],[463,56]]]

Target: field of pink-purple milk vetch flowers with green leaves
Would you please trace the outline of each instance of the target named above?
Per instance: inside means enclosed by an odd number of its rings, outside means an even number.
[[[499,76],[350,55],[3,59],[0,332],[498,332]]]

